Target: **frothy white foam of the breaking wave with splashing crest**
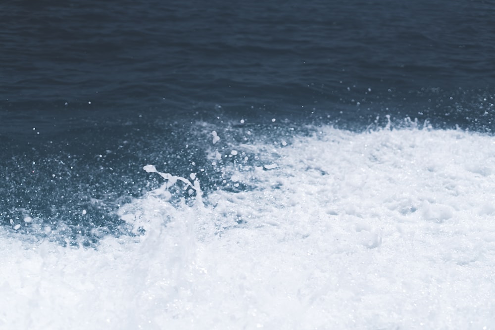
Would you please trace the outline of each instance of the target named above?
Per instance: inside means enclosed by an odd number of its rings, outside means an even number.
[[[324,128],[277,145],[233,145],[265,161],[232,173],[250,191],[124,205],[143,236],[0,234],[0,329],[495,328],[493,137]]]

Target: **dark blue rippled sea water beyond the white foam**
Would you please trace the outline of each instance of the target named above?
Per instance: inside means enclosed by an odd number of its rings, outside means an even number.
[[[0,222],[115,232],[147,163],[208,167],[216,189],[198,123],[240,139],[390,115],[493,134],[494,14],[482,0],[4,2]]]

